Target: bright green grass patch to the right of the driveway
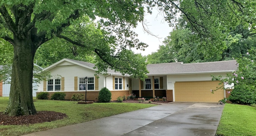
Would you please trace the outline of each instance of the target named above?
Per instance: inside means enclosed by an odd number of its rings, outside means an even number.
[[[217,136],[256,136],[256,108],[225,104]]]

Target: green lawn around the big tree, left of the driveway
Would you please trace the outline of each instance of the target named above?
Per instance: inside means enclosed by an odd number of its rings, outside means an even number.
[[[0,112],[3,112],[8,104],[8,98],[0,97]],[[68,126],[71,124],[87,122],[90,120],[112,116],[124,112],[130,112],[142,108],[154,106],[154,104],[139,103],[93,103],[77,104],[74,101],[36,100],[34,102],[37,111],[50,110],[62,112],[67,118],[52,122],[44,122],[30,125],[0,125],[0,136],[20,136],[42,130]]]

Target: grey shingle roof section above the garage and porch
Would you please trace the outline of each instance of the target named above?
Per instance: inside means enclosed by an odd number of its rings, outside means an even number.
[[[235,71],[237,68],[236,60],[186,64],[175,62],[147,65],[149,71],[148,75],[228,72]]]

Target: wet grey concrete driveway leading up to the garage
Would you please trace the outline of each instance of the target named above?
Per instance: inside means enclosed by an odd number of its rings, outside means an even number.
[[[24,136],[214,136],[223,107],[171,102]]]

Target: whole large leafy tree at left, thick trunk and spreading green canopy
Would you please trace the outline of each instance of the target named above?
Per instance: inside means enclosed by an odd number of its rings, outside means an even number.
[[[130,51],[147,46],[131,30],[144,18],[143,4],[144,0],[1,0],[0,37],[14,50],[10,101],[4,113],[36,114],[34,56],[43,43],[55,38],[79,46],[84,54],[94,52],[99,73],[111,68],[145,78],[146,63]]]

